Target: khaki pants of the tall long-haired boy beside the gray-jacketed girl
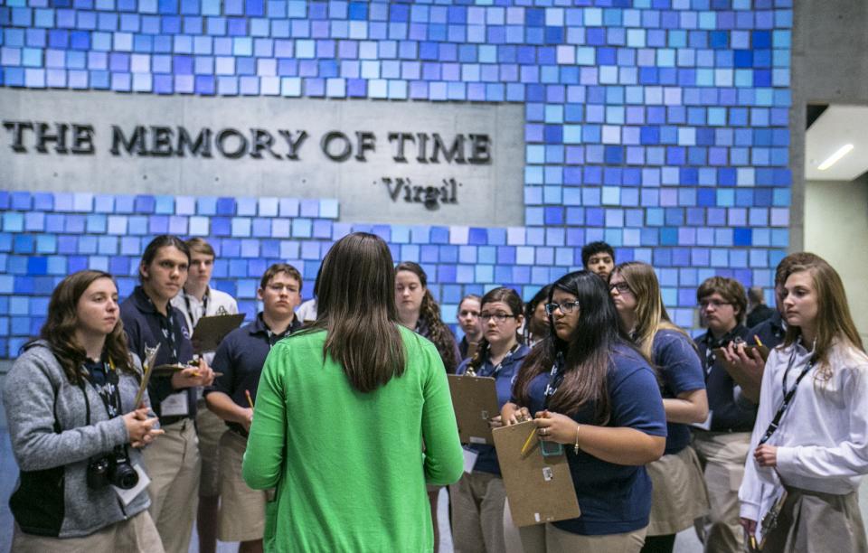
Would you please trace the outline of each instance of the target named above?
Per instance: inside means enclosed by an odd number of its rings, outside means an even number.
[[[187,553],[199,506],[199,440],[189,418],[163,429],[144,453],[151,517],[166,553]]]

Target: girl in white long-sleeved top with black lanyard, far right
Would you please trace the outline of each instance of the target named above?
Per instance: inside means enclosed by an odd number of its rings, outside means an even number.
[[[793,267],[783,308],[787,334],[762,375],[741,525],[772,553],[868,551],[858,501],[868,473],[868,355],[841,277],[819,258]],[[776,503],[773,524],[766,515]]]

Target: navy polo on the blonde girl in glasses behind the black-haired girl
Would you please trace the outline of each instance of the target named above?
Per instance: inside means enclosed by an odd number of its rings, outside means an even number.
[[[693,342],[684,333],[662,330],[654,335],[651,357],[663,380],[660,390],[664,398],[705,389],[705,373]],[[678,453],[690,444],[690,426],[666,423],[666,455]]]

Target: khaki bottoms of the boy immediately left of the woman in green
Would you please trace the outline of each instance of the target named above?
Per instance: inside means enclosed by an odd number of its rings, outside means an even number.
[[[217,539],[254,541],[265,534],[266,492],[251,490],[241,476],[247,438],[226,430],[220,438],[220,514]]]

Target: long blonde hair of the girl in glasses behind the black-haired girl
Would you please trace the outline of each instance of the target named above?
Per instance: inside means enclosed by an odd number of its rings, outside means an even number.
[[[647,359],[654,359],[651,352],[654,348],[654,337],[658,331],[672,330],[687,336],[687,333],[672,323],[666,312],[654,267],[641,261],[627,261],[612,270],[612,275],[616,273],[624,277],[624,282],[630,287],[630,293],[636,298],[636,310],[634,312],[636,328],[632,329],[632,338],[633,343]],[[623,330],[629,332],[631,329],[625,328]],[[693,343],[693,340],[690,342]]]

